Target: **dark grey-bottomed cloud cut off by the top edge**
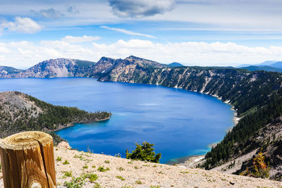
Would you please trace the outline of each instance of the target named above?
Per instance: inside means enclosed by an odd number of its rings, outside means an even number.
[[[174,0],[108,0],[115,15],[122,18],[136,18],[162,14],[171,11]]]

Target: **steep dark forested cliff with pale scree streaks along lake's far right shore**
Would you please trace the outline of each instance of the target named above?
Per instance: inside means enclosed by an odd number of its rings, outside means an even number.
[[[99,80],[159,84],[218,96],[233,104],[238,115],[269,101],[272,94],[281,89],[282,77],[278,73],[250,73],[231,68],[149,69],[133,66],[119,64],[110,72],[100,75]]]

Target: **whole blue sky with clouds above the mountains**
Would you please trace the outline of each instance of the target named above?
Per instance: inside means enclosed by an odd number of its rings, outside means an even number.
[[[282,61],[282,1],[0,0],[0,65],[131,55],[201,66]]]

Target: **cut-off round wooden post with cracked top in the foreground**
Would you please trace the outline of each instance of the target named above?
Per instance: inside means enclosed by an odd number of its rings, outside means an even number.
[[[5,188],[56,187],[53,139],[39,131],[20,132],[0,143]]]

